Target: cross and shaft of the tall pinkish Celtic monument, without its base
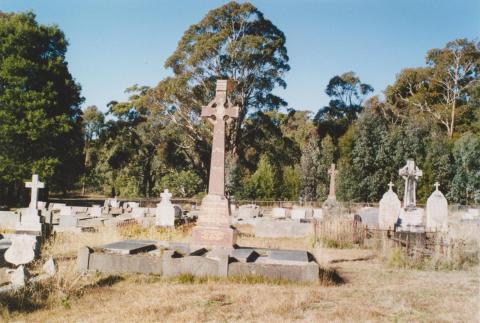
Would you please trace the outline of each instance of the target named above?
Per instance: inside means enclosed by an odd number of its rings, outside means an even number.
[[[215,98],[202,107],[202,117],[213,123],[212,158],[208,194],[225,195],[225,122],[238,118],[238,107],[227,98],[227,80],[217,80]]]

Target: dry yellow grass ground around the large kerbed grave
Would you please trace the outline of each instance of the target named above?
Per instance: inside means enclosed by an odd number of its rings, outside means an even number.
[[[188,275],[79,275],[78,248],[120,239],[187,241],[191,226],[176,230],[104,228],[59,233],[44,246],[58,273],[0,296],[1,318],[13,322],[159,321],[461,321],[478,319],[479,267],[414,269],[396,249],[381,253],[350,247],[323,248],[307,238],[256,238],[240,226],[238,244],[309,250],[321,264],[318,283],[258,277],[198,278]],[[8,304],[8,305],[7,305]]]

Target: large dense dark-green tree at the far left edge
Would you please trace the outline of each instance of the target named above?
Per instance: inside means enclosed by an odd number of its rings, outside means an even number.
[[[32,172],[66,190],[82,170],[82,98],[67,45],[33,13],[0,15],[0,200],[18,201]]]

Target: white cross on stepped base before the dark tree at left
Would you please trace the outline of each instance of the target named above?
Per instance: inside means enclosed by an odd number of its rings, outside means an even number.
[[[38,210],[38,190],[45,187],[45,183],[38,180],[38,175],[32,176],[31,182],[26,182],[25,187],[31,189],[30,205],[20,211],[20,222],[15,226],[17,232],[34,232],[41,235],[44,231],[44,217]]]

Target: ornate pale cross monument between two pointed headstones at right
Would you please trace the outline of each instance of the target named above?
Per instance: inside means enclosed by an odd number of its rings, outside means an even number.
[[[416,199],[417,180],[423,175],[423,172],[415,165],[413,159],[409,159],[398,173],[405,180],[405,192],[397,229],[398,231],[424,232],[423,209],[417,208]]]

